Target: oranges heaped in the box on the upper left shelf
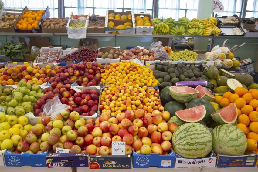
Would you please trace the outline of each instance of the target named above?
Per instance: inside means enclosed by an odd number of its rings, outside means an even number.
[[[23,19],[20,19],[16,27],[18,29],[38,29],[38,22],[41,19],[41,16],[44,14],[44,10],[39,11],[27,11],[22,15]]]

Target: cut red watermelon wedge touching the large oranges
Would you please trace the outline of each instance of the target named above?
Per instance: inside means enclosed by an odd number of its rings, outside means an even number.
[[[212,119],[221,124],[233,124],[237,118],[236,104],[223,107],[211,114]]]

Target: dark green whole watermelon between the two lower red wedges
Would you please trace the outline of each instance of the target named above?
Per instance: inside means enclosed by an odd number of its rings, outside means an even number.
[[[211,114],[215,112],[215,110],[208,100],[193,99],[191,102],[188,103],[188,105],[186,106],[186,109],[192,108],[195,106],[200,106],[200,105],[204,105],[206,109],[206,114],[205,114],[205,117],[203,118],[203,121],[207,124],[207,126],[210,126],[210,124],[213,123]]]

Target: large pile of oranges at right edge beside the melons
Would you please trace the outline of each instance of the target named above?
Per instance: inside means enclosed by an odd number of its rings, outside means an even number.
[[[226,92],[223,97],[215,96],[214,101],[221,107],[236,104],[238,112],[236,126],[246,134],[246,150],[258,153],[258,90],[237,87],[234,94]]]

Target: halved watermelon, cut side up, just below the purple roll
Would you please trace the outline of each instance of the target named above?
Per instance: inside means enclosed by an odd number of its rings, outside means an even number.
[[[173,99],[181,103],[188,103],[192,99],[196,99],[199,91],[188,86],[171,86],[169,93]]]

